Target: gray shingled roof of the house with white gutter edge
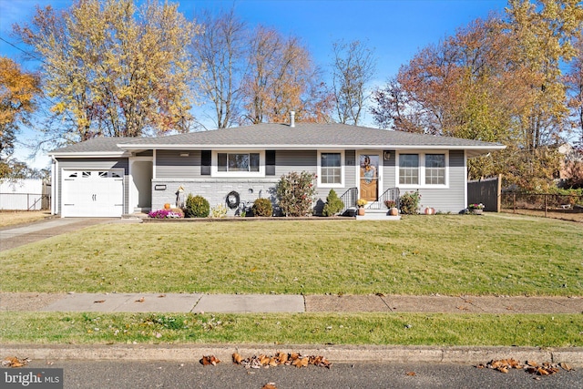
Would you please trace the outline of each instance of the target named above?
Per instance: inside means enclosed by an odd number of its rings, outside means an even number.
[[[117,142],[112,140],[117,139]],[[146,149],[465,149],[468,157],[505,148],[499,143],[437,137],[379,128],[343,124],[270,123],[240,128],[190,132],[159,138],[95,138],[68,148],[59,148],[52,156],[72,154],[97,155]]]

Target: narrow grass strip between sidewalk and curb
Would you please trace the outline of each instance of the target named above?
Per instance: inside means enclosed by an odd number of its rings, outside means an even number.
[[[583,346],[581,314],[0,312],[2,343]],[[409,328],[407,328],[409,327]]]

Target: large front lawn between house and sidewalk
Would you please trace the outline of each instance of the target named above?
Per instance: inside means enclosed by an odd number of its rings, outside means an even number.
[[[398,222],[103,224],[0,252],[2,292],[583,295],[583,225],[511,215]]]

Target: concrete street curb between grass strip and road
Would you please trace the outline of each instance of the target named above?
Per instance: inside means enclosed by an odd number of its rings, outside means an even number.
[[[289,344],[8,344],[0,349],[6,356],[32,360],[98,360],[109,361],[198,361],[203,355],[215,355],[230,362],[232,353],[244,357],[277,352],[323,355],[332,363],[487,363],[493,359],[514,358],[538,363],[570,363],[583,366],[583,347],[426,347],[378,345],[289,345]]]

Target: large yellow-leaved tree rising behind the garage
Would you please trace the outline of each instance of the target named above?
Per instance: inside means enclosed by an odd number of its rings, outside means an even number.
[[[42,59],[46,95],[68,141],[189,129],[191,36],[178,5],[77,0],[37,8],[15,34]]]

